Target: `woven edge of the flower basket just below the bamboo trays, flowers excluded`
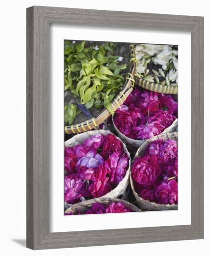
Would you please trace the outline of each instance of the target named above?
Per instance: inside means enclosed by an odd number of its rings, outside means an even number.
[[[118,128],[116,127],[115,123],[114,123],[114,115],[112,116],[112,123],[113,123],[113,126],[114,126],[114,129],[115,131],[117,132],[119,138],[124,141],[125,144],[128,144],[130,146],[130,148],[132,149],[135,149],[135,148],[139,148],[146,140],[133,140],[131,138],[128,138],[126,137],[124,134],[122,134]],[[178,120],[176,118],[176,120],[174,120],[174,122],[166,129],[164,129],[164,131],[160,134],[160,135],[163,135],[165,133],[169,133],[169,132],[173,132],[175,131],[176,127],[177,127],[177,124],[178,124]],[[157,138],[158,135],[154,136],[154,138]]]

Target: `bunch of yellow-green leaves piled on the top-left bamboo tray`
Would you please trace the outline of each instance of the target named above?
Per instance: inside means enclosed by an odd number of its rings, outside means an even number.
[[[118,55],[114,55],[116,43],[85,47],[82,43],[65,40],[65,90],[70,90],[77,103],[85,108],[113,109],[110,102],[123,87],[122,70]]]

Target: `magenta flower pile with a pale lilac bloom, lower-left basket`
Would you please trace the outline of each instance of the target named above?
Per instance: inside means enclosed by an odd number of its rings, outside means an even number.
[[[123,180],[129,157],[115,135],[95,135],[65,148],[65,202],[101,197]]]

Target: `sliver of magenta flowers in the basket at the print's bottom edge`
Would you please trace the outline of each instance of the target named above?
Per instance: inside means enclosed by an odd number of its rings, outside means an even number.
[[[84,214],[99,214],[99,213],[120,213],[120,212],[132,212],[131,209],[128,209],[124,206],[122,202],[111,202],[109,205],[104,205],[99,202],[92,204],[90,209],[85,211]],[[77,214],[82,214],[79,210]],[[73,212],[66,215],[74,215]]]

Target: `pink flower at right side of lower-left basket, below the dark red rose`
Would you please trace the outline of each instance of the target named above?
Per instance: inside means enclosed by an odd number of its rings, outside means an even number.
[[[110,175],[110,182],[112,184],[117,185],[123,180],[128,166],[128,159],[127,154],[119,158],[116,153],[112,153],[104,162],[104,167],[107,169],[107,174]]]

